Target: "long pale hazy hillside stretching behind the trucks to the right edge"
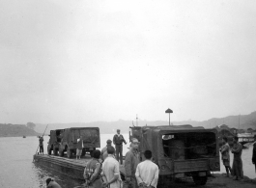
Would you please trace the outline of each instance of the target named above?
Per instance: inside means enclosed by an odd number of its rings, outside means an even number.
[[[229,116],[225,118],[213,118],[208,121],[171,121],[174,125],[181,124],[191,124],[192,126],[203,126],[205,128],[213,128],[219,124],[227,124],[230,128],[253,128],[256,129],[256,112],[252,112],[249,115],[238,115],[238,116]],[[133,124],[136,125],[136,122],[133,121]],[[139,126],[144,125],[168,125],[169,121],[138,121]],[[49,130],[52,129],[62,129],[69,127],[83,127],[83,126],[97,126],[100,127],[100,133],[103,134],[114,134],[116,129],[121,129],[121,132],[128,133],[128,127],[132,126],[132,121],[95,121],[95,122],[72,122],[72,123],[50,123],[45,131],[46,134],[49,133]],[[37,132],[43,133],[46,124],[36,123],[35,130]]]

